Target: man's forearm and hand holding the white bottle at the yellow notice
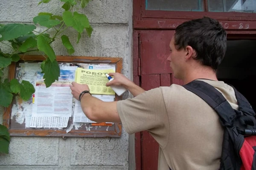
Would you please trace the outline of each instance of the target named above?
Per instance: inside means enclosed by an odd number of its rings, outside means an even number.
[[[128,91],[131,92],[131,94],[135,97],[139,94],[142,94],[145,90],[141,88],[140,86],[136,85],[134,82],[126,78],[124,75],[120,73],[109,73],[110,76],[113,76],[114,79],[111,82],[108,82],[106,86],[123,86]]]

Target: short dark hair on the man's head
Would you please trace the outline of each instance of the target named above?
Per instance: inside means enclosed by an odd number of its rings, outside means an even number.
[[[174,35],[177,50],[187,45],[196,51],[194,59],[217,70],[227,48],[227,33],[221,24],[212,18],[203,17],[177,26]]]

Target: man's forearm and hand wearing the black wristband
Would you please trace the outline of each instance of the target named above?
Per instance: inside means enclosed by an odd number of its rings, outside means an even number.
[[[72,82],[71,93],[79,100],[82,91],[90,91],[88,85]],[[81,108],[84,114],[95,122],[121,122],[116,109],[117,102],[103,102],[86,93],[81,97]]]

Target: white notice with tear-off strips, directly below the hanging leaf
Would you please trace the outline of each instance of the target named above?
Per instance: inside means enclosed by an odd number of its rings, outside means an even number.
[[[70,82],[74,81],[77,67],[60,68],[59,81],[48,88],[44,84],[43,74],[37,73],[30,127],[67,127],[73,102]]]

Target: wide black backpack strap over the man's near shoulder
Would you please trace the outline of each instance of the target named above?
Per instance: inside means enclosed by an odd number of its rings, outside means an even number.
[[[183,87],[207,102],[218,113],[220,122],[223,126],[233,125],[233,119],[236,116],[236,112],[227,102],[227,99],[225,99],[225,97],[212,85],[200,80],[194,80],[183,85]]]

